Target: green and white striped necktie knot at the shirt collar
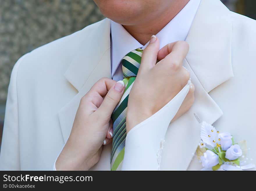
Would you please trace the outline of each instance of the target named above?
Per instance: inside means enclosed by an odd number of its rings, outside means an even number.
[[[121,60],[124,78],[136,77],[141,64],[142,49],[129,52]]]

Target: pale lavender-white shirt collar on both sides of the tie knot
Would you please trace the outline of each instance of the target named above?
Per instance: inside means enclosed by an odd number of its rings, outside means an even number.
[[[156,36],[160,40],[160,49],[166,44],[186,40],[189,29],[198,10],[201,0],[190,0],[186,6]],[[115,74],[121,59],[129,52],[144,46],[131,36],[125,28],[111,21],[111,75]]]

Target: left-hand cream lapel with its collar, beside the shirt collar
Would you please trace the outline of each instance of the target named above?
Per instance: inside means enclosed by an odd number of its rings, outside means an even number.
[[[66,79],[78,90],[78,94],[58,112],[64,142],[69,137],[81,98],[97,80],[111,77],[110,20],[104,19],[97,23],[90,34],[82,40],[65,72]]]

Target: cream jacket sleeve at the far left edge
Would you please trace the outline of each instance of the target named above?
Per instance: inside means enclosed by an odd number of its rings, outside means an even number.
[[[17,74],[25,56],[17,61],[10,78],[0,152],[0,170],[20,170]]]

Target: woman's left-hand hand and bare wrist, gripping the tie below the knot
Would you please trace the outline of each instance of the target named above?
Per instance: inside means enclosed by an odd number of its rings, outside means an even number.
[[[88,170],[99,161],[102,144],[112,142],[110,117],[124,90],[122,81],[102,78],[82,97],[57,170]]]

